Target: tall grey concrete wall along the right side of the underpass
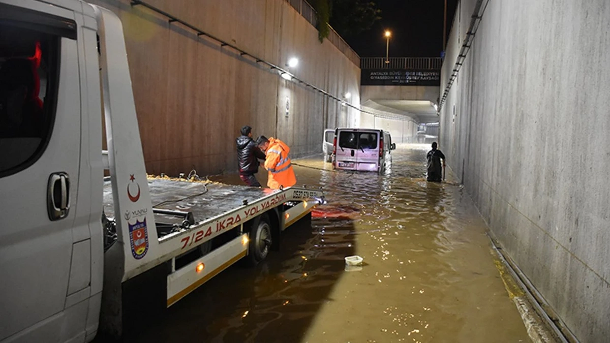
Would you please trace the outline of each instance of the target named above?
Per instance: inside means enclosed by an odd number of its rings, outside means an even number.
[[[461,1],[442,85],[474,3]],[[440,121],[448,164],[582,342],[610,337],[608,18],[607,0],[489,1]]]

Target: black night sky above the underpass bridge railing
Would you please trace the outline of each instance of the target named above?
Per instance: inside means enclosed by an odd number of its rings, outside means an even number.
[[[444,0],[373,0],[381,20],[357,37],[343,37],[361,57],[385,57],[384,31],[392,31],[390,57],[440,57]],[[458,0],[447,0],[447,34]]]

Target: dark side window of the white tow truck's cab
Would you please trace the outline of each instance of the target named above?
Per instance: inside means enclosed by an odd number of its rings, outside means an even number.
[[[0,177],[33,164],[51,137],[60,37],[25,9],[0,4]],[[23,21],[20,21],[20,18]],[[28,20],[32,21],[32,24]]]

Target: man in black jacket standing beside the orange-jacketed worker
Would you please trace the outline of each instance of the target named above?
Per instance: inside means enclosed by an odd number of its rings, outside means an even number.
[[[260,151],[252,139],[252,128],[244,126],[242,135],[237,137],[237,161],[239,162],[239,177],[248,186],[260,187],[256,174],[259,171],[259,159],[265,159],[265,153]]]

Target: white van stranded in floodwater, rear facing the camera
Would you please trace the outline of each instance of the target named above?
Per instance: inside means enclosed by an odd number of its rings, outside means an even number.
[[[396,145],[387,131],[337,128],[333,139],[333,164],[339,170],[386,171]]]

